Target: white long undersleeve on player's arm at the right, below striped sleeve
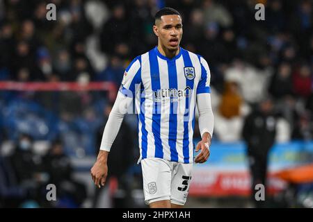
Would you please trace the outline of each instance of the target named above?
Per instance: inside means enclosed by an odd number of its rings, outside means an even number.
[[[212,137],[214,130],[214,114],[211,107],[211,95],[209,93],[198,94],[197,105],[201,138],[206,132]]]

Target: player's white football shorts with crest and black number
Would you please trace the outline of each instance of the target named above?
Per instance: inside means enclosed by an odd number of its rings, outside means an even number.
[[[170,162],[160,158],[141,160],[145,203],[170,200],[184,205],[188,196],[193,164]]]

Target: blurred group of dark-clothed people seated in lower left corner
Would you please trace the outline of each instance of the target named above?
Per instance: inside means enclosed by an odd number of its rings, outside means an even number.
[[[81,207],[87,192],[56,139],[45,155],[33,152],[33,138],[21,134],[10,155],[0,155],[0,207]],[[48,184],[55,185],[47,198]],[[57,189],[56,189],[57,187]],[[58,197],[58,198],[56,198]]]

